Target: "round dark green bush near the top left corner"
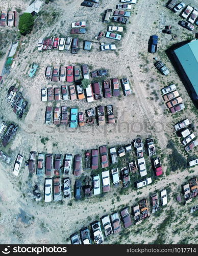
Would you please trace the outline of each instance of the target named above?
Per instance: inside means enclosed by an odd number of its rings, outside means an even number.
[[[34,18],[32,14],[24,12],[19,18],[19,31],[21,35],[30,34],[34,26]]]

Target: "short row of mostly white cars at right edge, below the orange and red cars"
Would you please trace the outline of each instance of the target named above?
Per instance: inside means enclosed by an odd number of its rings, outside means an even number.
[[[179,123],[175,124],[174,128],[178,136],[181,136],[183,138],[181,142],[185,146],[184,150],[186,152],[191,151],[193,147],[198,145],[198,140],[195,140],[194,133],[191,133],[189,131],[189,130],[194,131],[194,125],[190,124],[188,119],[184,119]]]

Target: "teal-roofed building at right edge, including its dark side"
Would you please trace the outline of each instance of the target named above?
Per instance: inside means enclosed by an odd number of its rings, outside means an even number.
[[[193,100],[198,102],[198,40],[193,40],[174,51],[183,83]],[[189,90],[188,90],[189,89]]]

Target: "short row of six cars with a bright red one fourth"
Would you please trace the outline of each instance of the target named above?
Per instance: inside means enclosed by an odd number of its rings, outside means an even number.
[[[52,67],[48,66],[45,70],[45,77],[47,80],[51,80],[53,82],[73,82],[79,81],[82,78],[89,79],[89,69],[88,65],[84,64],[82,67],[80,66],[55,66],[53,69]]]

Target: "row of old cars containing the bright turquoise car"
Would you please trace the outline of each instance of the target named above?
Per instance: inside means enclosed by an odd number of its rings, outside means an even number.
[[[55,107],[54,108],[54,118],[53,118],[53,107],[47,106],[45,113],[45,124],[55,124],[55,125],[67,125],[69,123],[70,128],[77,128],[79,126],[84,126],[85,123],[93,124],[95,118],[95,112],[97,113],[96,122],[98,125],[106,123],[105,120],[105,108],[104,106],[97,106],[96,111],[94,109],[88,109],[85,111],[86,119],[84,112],[79,112],[77,108],[70,109],[66,106]],[[107,112],[107,123],[115,123],[113,105],[106,106]]]

